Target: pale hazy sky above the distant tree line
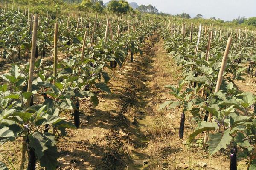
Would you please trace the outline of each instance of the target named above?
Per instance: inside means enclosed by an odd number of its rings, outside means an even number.
[[[109,0],[103,0],[104,3]],[[256,17],[256,0],[127,0],[138,5],[151,4],[165,13],[177,14],[186,12],[191,17],[202,14],[204,18],[215,17],[222,20],[233,20],[239,15]]]

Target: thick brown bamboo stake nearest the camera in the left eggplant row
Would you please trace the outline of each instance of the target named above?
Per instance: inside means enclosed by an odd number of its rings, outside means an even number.
[[[30,65],[29,65],[29,79],[28,79],[28,88],[27,92],[32,91],[32,80],[34,74],[34,67],[35,67],[35,48],[36,48],[36,41],[37,41],[37,30],[38,30],[38,15],[35,14],[34,16],[34,26],[33,26],[33,35],[32,35],[32,47],[31,47],[31,55],[30,55]],[[31,98],[27,99],[27,107],[30,106]],[[24,164],[26,161],[26,138],[27,136],[23,137],[22,142],[22,149],[21,149],[21,163],[20,169],[24,169]]]

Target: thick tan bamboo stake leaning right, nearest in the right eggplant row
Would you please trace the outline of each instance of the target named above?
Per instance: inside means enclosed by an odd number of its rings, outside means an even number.
[[[232,38],[229,38],[228,41],[227,41],[227,46],[226,46],[224,56],[222,58],[221,68],[220,68],[220,71],[219,71],[219,74],[218,74],[217,85],[215,87],[215,93],[217,93],[220,90],[220,87],[221,87],[221,82],[222,82],[222,79],[223,79],[223,73],[224,73],[226,65],[227,65],[227,57],[228,57],[228,54],[229,54],[231,42],[232,42]],[[212,122],[212,113],[209,113],[208,121]],[[204,136],[204,142],[203,142],[204,147],[206,146],[206,142],[208,141],[208,133],[209,132],[206,132],[205,136]]]

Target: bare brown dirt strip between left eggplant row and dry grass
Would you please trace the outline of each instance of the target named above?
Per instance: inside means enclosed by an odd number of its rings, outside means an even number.
[[[134,62],[125,62],[117,71],[109,83],[112,93],[101,94],[96,108],[86,100],[80,103],[81,128],[69,130],[69,136],[58,142],[61,169],[137,170],[148,166],[145,126],[151,119],[152,92],[147,82],[153,78],[149,56],[154,56],[154,41],[156,35],[147,41],[143,56],[134,56]]]

